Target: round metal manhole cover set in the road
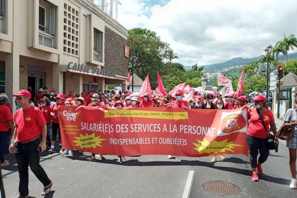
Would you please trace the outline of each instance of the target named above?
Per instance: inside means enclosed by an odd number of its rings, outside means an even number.
[[[241,189],[229,182],[223,182],[223,181],[209,181],[205,182],[202,185],[202,188],[206,191],[209,191],[211,193],[215,193],[218,195],[236,195],[241,192]]]

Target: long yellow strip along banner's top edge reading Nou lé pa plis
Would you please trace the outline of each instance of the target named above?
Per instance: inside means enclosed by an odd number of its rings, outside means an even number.
[[[138,118],[153,118],[153,119],[170,119],[170,120],[185,120],[188,119],[188,112],[170,112],[170,111],[146,111],[146,110],[106,110],[104,118],[112,117],[138,117]]]

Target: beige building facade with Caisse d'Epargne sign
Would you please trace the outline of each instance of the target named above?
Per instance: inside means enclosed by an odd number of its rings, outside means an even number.
[[[0,92],[125,90],[127,38],[93,0],[0,0]]]

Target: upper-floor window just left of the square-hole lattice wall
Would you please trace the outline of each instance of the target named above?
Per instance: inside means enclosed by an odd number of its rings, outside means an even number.
[[[39,30],[52,36],[56,29],[56,8],[47,1],[39,1]]]

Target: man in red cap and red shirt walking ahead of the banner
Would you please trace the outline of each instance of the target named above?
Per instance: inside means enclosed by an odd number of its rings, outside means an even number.
[[[14,152],[18,170],[19,170],[19,196],[17,198],[26,198],[29,194],[28,166],[32,172],[44,185],[41,195],[49,194],[52,182],[47,173],[39,164],[40,152],[43,152],[46,146],[47,125],[43,112],[31,106],[29,101],[31,94],[27,90],[20,90],[13,95],[21,108],[14,115],[15,129],[9,151]],[[40,135],[42,134],[42,141]]]

